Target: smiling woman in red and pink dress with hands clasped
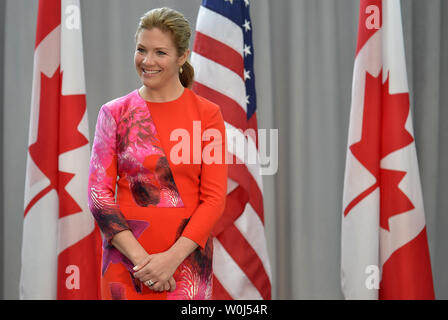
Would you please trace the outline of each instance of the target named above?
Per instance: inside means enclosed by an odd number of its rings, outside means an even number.
[[[134,56],[143,85],[98,115],[89,207],[105,238],[103,299],[211,298],[210,234],[227,189],[225,127],[219,107],[189,89],[190,35],[179,12],[147,12]],[[188,133],[182,148],[175,132]],[[204,161],[206,149],[218,161]]]

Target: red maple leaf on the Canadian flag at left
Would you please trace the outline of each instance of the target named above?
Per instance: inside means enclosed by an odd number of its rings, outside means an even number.
[[[50,185],[30,201],[25,215],[42,197],[56,190],[59,195],[59,217],[64,217],[82,210],[65,190],[74,174],[59,171],[59,155],[88,143],[77,129],[86,109],[85,96],[61,96],[60,68],[51,78],[41,73],[40,83],[37,140],[29,147],[29,153],[36,166],[50,180]]]

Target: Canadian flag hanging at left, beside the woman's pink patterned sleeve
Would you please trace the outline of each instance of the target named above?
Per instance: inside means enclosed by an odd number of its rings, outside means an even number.
[[[79,0],[40,0],[25,182],[21,299],[97,299]]]

